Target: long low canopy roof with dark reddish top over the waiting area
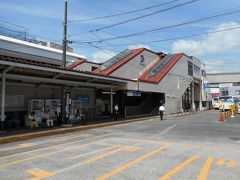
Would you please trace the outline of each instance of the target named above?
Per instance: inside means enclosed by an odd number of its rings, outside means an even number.
[[[126,79],[82,72],[59,65],[0,55],[0,70],[6,78],[20,82],[69,86],[110,87],[127,83]]]

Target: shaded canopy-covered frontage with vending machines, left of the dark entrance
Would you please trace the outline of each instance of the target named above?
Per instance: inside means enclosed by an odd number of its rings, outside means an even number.
[[[120,78],[64,70],[57,65],[8,56],[0,56],[0,64],[3,72],[1,112],[4,112],[1,122],[8,128],[23,127],[31,111],[40,119],[45,110],[50,110],[51,118],[56,119],[63,85],[66,87],[67,117],[74,119],[76,111],[80,110],[86,119],[93,120],[98,89],[110,91],[126,83]]]

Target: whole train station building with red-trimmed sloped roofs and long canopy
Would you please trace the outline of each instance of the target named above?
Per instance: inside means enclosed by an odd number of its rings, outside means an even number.
[[[55,45],[56,46],[56,45]],[[49,109],[55,118],[61,87],[67,88],[67,113],[81,110],[87,120],[110,117],[118,104],[120,116],[157,115],[206,108],[204,66],[184,53],[166,54],[146,48],[126,49],[104,63],[88,61],[53,45],[0,36],[1,117],[7,126],[24,126],[26,114]]]

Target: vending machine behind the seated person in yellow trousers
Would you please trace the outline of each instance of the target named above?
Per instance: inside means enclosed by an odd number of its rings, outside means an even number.
[[[28,113],[35,113],[36,120],[41,122],[44,112],[44,99],[31,99],[28,101]]]

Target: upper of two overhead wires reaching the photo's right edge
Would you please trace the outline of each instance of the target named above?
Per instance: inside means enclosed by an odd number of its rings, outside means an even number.
[[[155,29],[150,29],[147,31],[142,31],[142,32],[137,32],[137,33],[132,33],[132,34],[127,34],[127,35],[121,35],[121,36],[117,36],[117,37],[112,37],[112,38],[106,38],[106,39],[102,39],[101,41],[82,41],[80,43],[99,43],[99,42],[103,42],[103,41],[111,41],[111,40],[115,40],[115,39],[121,39],[121,38],[126,38],[126,37],[132,37],[132,36],[141,36],[141,35],[145,35],[148,33],[153,33],[156,31],[160,31],[163,29],[170,29],[170,28],[175,28],[175,27],[180,27],[180,26],[184,26],[184,25],[188,25],[188,24],[194,24],[197,22],[201,22],[201,21],[206,21],[206,20],[210,20],[210,19],[214,19],[217,17],[221,17],[221,16],[226,16],[226,15],[230,15],[230,14],[234,14],[234,13],[239,13],[240,10],[233,10],[230,12],[225,12],[225,13],[220,13],[220,14],[216,14],[216,15],[211,15],[211,16],[205,16],[205,17],[201,17],[198,19],[194,19],[194,20],[190,20],[190,21],[185,21],[182,23],[178,23],[178,24],[173,24],[173,25],[169,25],[169,26],[165,26],[165,27],[161,27],[161,28],[155,28]]]

